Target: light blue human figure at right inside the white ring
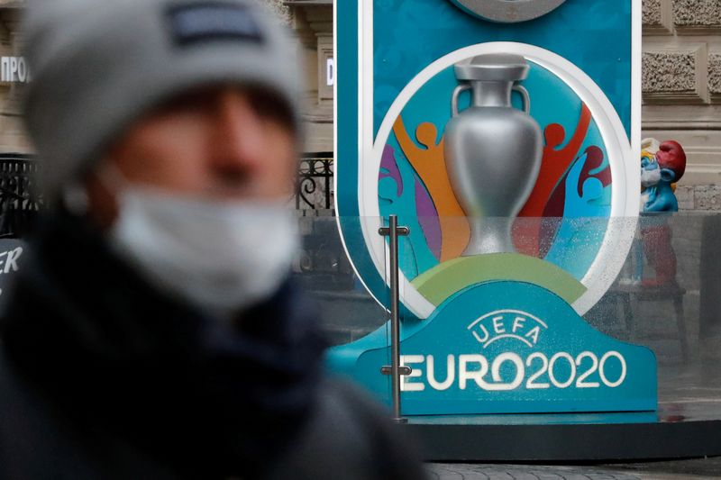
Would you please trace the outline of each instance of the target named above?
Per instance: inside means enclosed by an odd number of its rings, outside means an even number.
[[[587,154],[578,158],[566,177],[561,228],[545,257],[578,280],[586,275],[598,254],[611,212],[607,187],[598,178],[587,178],[579,195],[580,175],[587,159]]]

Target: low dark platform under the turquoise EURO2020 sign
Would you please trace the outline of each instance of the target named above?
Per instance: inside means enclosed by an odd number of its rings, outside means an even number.
[[[659,412],[408,417],[434,462],[601,462],[721,456],[721,414],[666,403]],[[680,412],[691,410],[689,416]],[[696,412],[694,412],[696,411]],[[717,413],[717,412],[714,412]]]

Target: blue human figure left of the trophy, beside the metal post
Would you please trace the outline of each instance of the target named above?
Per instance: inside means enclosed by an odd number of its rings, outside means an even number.
[[[394,151],[394,156],[397,150]],[[396,158],[397,160],[397,158]],[[438,265],[438,259],[428,247],[423,229],[418,222],[415,203],[415,173],[407,161],[397,161],[403,188],[398,188],[397,179],[381,177],[378,184],[381,213],[395,213],[398,222],[410,228],[410,235],[398,242],[399,265],[406,278],[413,280],[426,270]],[[398,193],[401,192],[400,195]]]

